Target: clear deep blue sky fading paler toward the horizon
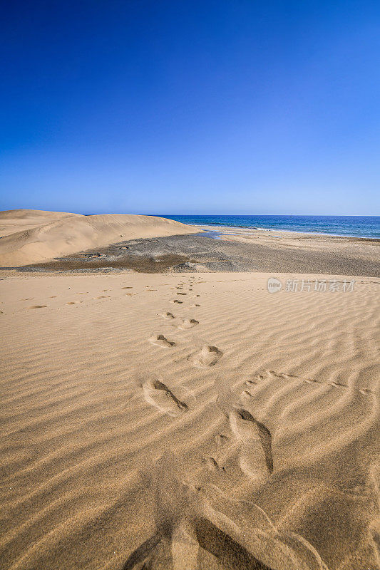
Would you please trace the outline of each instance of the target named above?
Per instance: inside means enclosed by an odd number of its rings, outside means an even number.
[[[380,2],[12,1],[0,209],[380,214]]]

